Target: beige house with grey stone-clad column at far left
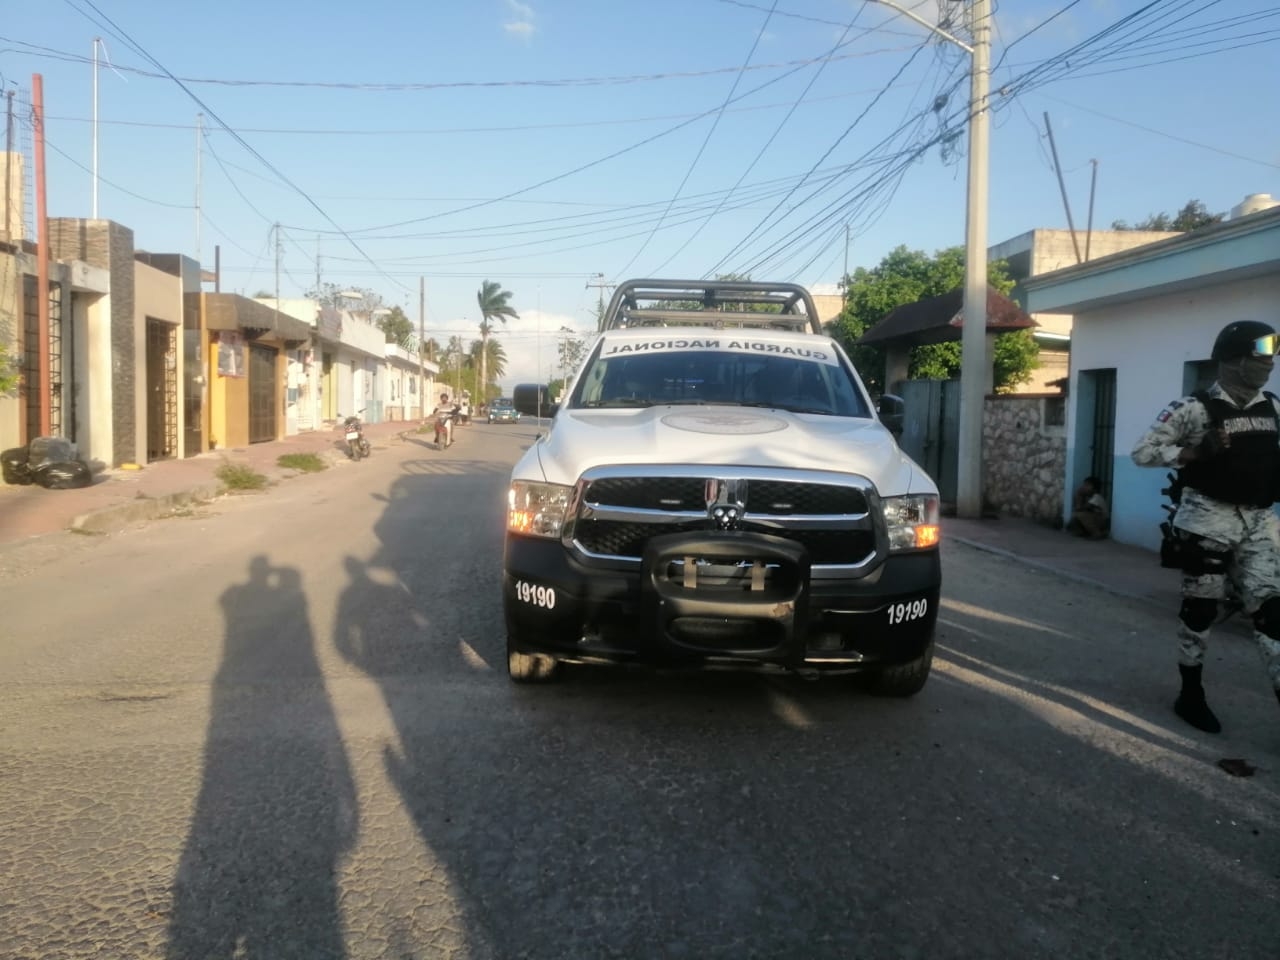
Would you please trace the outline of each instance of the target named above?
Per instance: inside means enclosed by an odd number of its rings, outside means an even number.
[[[184,259],[133,248],[111,220],[49,220],[49,332],[41,351],[35,244],[0,247],[0,338],[23,385],[0,398],[0,444],[65,436],[96,466],[192,456],[184,430]],[[186,261],[189,262],[189,261]]]

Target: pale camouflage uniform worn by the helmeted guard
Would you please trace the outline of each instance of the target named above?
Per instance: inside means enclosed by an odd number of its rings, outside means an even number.
[[[1239,411],[1265,399],[1260,392],[1245,407],[1240,407],[1219,384],[1210,388],[1208,396]],[[1271,407],[1280,412],[1280,402],[1275,398],[1271,398]],[[1133,460],[1138,466],[1176,468],[1183,448],[1197,447],[1210,425],[1208,408],[1199,399],[1185,397],[1174,401],[1134,444]],[[1275,419],[1270,425],[1256,422],[1254,426],[1271,433],[1276,429]],[[1270,506],[1229,503],[1185,486],[1174,526],[1189,535],[1194,558],[1183,576],[1179,663],[1187,667],[1203,663],[1210,626],[1230,576],[1240,591],[1245,612],[1253,618],[1254,640],[1271,686],[1280,696],[1280,522],[1275,512]]]

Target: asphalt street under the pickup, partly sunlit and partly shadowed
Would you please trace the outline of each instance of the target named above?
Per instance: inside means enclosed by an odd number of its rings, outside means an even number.
[[[947,544],[910,700],[513,687],[532,434],[0,554],[0,956],[1280,956],[1280,712],[1243,640],[1201,735],[1171,612]]]

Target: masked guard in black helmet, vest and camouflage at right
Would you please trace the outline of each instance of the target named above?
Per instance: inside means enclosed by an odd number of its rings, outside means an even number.
[[[1229,576],[1280,699],[1280,524],[1271,508],[1280,499],[1280,399],[1262,393],[1277,347],[1267,324],[1224,326],[1213,342],[1217,381],[1165,407],[1132,454],[1138,466],[1179,467],[1183,490],[1172,522],[1185,556],[1178,613],[1183,686],[1174,712],[1208,733],[1222,726],[1204,701],[1201,673]]]

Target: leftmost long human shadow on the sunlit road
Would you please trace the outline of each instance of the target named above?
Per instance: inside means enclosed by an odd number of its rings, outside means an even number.
[[[220,603],[225,645],[168,956],[342,957],[337,873],[356,794],[301,577],[257,556]]]

